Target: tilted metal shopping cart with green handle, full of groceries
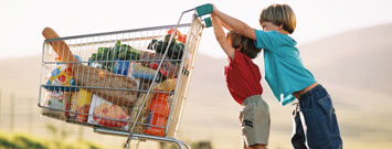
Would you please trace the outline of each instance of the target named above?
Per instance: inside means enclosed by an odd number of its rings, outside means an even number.
[[[126,148],[146,139],[190,148],[176,135],[202,30],[211,25],[202,11],[182,12],[174,25],[96,34],[60,38],[45,29],[42,115],[128,137]],[[190,23],[181,23],[188,12]]]

